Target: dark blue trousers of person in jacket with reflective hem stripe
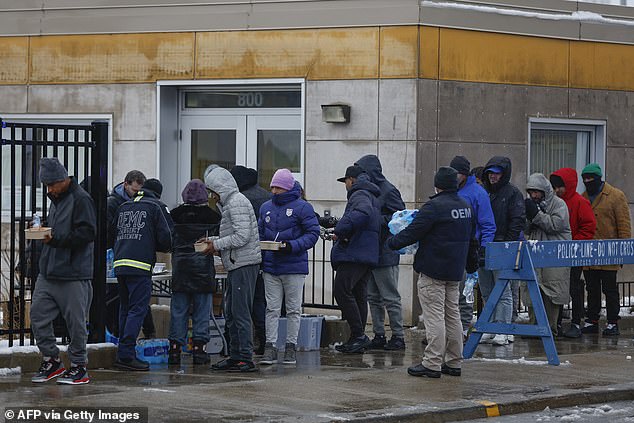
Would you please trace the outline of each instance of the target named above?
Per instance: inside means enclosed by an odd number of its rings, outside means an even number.
[[[117,357],[136,357],[134,347],[152,295],[152,276],[117,276],[119,281],[119,349]]]

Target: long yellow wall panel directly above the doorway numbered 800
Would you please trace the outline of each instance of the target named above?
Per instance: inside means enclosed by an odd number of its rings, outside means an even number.
[[[379,28],[204,32],[196,78],[379,76]]]

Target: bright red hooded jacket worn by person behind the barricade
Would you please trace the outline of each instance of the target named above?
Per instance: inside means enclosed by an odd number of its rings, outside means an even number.
[[[590,201],[583,198],[577,192],[577,171],[565,167],[553,172],[553,175],[559,176],[564,181],[564,186],[566,187],[566,193],[562,199],[566,202],[566,206],[568,206],[572,239],[593,239],[594,233],[597,230],[597,219],[594,217]]]

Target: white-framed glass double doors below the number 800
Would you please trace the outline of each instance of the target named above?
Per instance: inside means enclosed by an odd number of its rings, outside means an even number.
[[[230,170],[254,168],[268,189],[276,169],[287,168],[302,182],[303,148],[298,115],[182,116],[179,186],[202,179],[210,164]]]

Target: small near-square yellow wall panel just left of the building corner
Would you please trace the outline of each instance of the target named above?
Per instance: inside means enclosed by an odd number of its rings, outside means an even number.
[[[416,78],[418,75],[418,27],[381,28],[381,78]]]

